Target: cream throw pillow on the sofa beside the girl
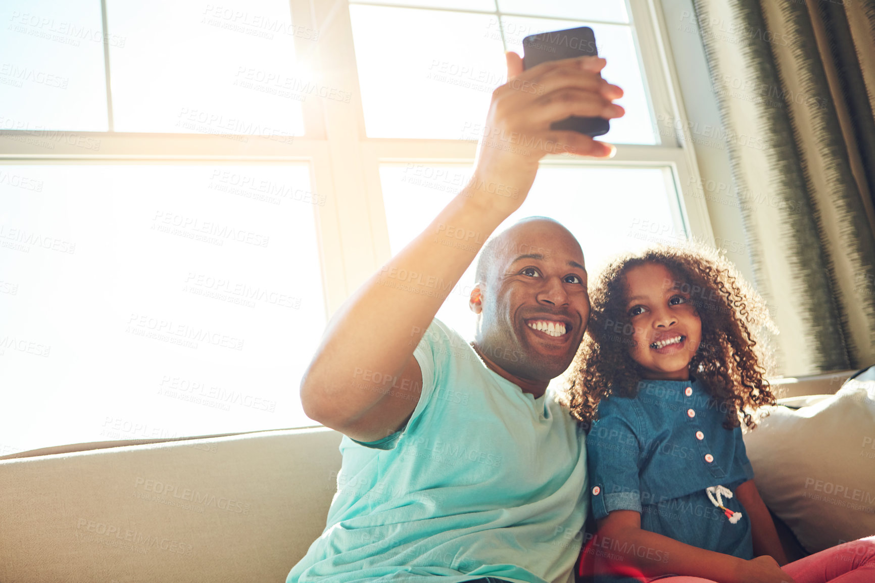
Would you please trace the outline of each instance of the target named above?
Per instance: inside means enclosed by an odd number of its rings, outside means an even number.
[[[768,411],[745,445],[769,509],[809,552],[875,534],[875,382]]]

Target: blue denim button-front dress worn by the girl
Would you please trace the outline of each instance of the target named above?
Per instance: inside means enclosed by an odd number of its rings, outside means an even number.
[[[753,558],[751,523],[734,496],[753,468],[741,429],[725,429],[725,415],[725,405],[692,379],[642,381],[638,397],[599,403],[586,437],[593,516],[634,510],[643,530]],[[610,550],[603,542],[601,551]],[[647,551],[661,560],[659,550]]]

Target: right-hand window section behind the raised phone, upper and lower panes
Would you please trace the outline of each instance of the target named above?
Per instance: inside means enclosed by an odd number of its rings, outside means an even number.
[[[667,96],[670,83],[661,63],[645,58],[662,53],[650,10],[646,2],[500,0],[450,8],[351,0],[363,147],[380,168],[374,191],[381,192],[387,221],[386,256],[420,233],[470,178],[491,93],[505,81],[504,51],[522,54],[522,39],[530,34],[581,25],[593,29],[598,53],[609,58],[605,78],[625,90],[619,102],[627,115],[612,120],[603,137],[625,145],[610,161],[543,158],[528,199],[505,225],[531,214],[561,217],[593,271],[622,249],[690,235],[707,240],[704,205],[692,197],[683,201],[690,152],[657,131],[657,116],[676,103]],[[469,339],[473,271],[467,270],[438,313]]]

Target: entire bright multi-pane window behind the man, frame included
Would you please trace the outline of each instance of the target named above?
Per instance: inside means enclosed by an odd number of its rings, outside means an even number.
[[[602,4],[5,3],[0,455],[313,425],[327,318],[464,185],[528,34],[591,25],[630,113],[616,158],[545,158],[518,214],[561,214],[590,266],[707,240],[691,151],[655,131],[659,20]],[[439,314],[463,334],[469,279]]]

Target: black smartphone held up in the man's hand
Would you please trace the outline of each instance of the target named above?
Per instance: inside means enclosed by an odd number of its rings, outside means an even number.
[[[522,67],[529,69],[548,60],[596,55],[596,35],[589,26],[541,32],[522,39]],[[587,136],[604,136],[611,129],[604,117],[570,116],[550,123],[550,130],[572,130]]]

